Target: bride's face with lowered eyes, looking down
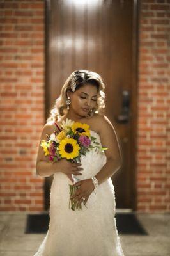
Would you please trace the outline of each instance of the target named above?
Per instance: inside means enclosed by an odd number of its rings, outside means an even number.
[[[97,106],[97,86],[84,84],[73,93],[70,93],[70,108],[77,115],[86,116],[88,112]]]

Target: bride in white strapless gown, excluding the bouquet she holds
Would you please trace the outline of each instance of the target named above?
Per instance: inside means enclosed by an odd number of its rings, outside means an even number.
[[[96,150],[81,156],[81,164],[60,159],[49,163],[42,147],[38,149],[36,172],[54,175],[50,190],[49,230],[35,256],[123,256],[116,228],[115,196],[112,175],[121,166],[121,150],[114,127],[104,115],[104,83],[102,77],[89,70],[75,70],[66,79],[61,95],[50,111],[46,134],[61,125],[66,118],[89,125],[91,136],[97,138],[102,153]],[[72,175],[79,177],[75,182]],[[93,177],[93,179],[92,179]],[[68,182],[79,185],[72,196],[82,210],[68,208]],[[85,207],[86,206],[86,207]]]

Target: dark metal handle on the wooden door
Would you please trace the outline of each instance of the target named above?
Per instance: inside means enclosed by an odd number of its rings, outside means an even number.
[[[128,90],[123,90],[122,98],[121,113],[116,116],[116,121],[118,123],[125,124],[129,121],[130,92]]]

